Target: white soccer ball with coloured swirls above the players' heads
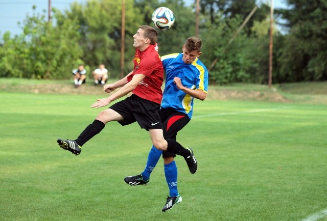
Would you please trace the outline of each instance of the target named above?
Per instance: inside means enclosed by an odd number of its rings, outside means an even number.
[[[160,7],[152,13],[152,21],[156,29],[167,30],[174,24],[175,16],[169,8]]]

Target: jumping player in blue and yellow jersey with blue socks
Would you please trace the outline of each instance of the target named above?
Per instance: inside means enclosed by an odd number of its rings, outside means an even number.
[[[194,98],[204,100],[208,88],[208,71],[198,59],[201,55],[202,41],[197,37],[188,38],[182,53],[162,56],[161,61],[166,72],[166,86],[161,101],[160,117],[164,129],[165,139],[176,140],[176,135],[186,124],[193,114]],[[169,187],[169,196],[162,211],[171,209],[182,201],[177,190],[177,167],[175,155],[157,150],[152,146],[149,152],[145,170],[136,176],[125,177],[129,185],[146,185],[150,180],[150,174],[157,164],[160,156],[164,158],[164,170]],[[193,174],[195,170],[190,170]]]

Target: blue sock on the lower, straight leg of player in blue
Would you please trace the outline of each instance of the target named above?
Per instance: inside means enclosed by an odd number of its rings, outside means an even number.
[[[166,181],[169,187],[169,195],[171,197],[177,197],[178,196],[178,190],[177,190],[177,165],[175,160],[165,164],[165,176]]]

